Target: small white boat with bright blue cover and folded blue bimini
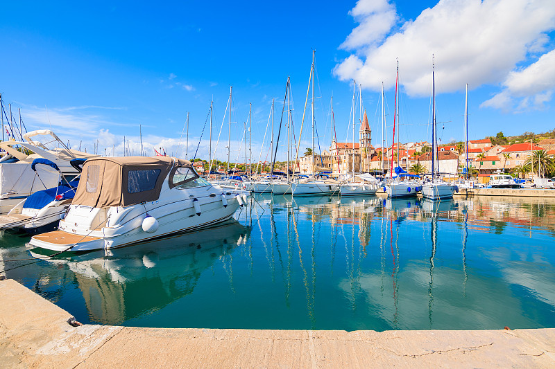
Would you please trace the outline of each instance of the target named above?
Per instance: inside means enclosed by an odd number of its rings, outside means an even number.
[[[84,159],[74,159],[83,164]],[[39,164],[49,165],[58,170],[58,166],[46,159],[35,159],[31,168],[36,170]],[[79,165],[79,164],[76,164]],[[57,228],[78,186],[78,179],[69,182],[60,172],[61,185],[48,190],[37,191],[17,204],[7,215],[0,215],[0,229],[19,229],[27,233],[43,233]]]

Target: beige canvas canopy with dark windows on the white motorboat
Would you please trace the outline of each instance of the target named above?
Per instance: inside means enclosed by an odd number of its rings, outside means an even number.
[[[171,156],[89,159],[72,204],[108,208],[156,201],[169,172],[182,167],[192,170],[189,161]]]

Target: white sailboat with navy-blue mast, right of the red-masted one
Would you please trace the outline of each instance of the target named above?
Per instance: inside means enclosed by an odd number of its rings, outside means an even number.
[[[432,60],[434,60],[432,62],[432,179],[422,185],[422,196],[431,200],[451,199],[455,192],[455,186],[439,178],[439,163],[436,165],[436,157],[438,154],[436,132],[436,62],[433,55]]]

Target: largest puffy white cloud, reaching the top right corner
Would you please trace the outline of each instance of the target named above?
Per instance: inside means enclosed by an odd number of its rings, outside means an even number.
[[[543,51],[549,41],[545,33],[555,28],[552,0],[441,0],[393,33],[391,19],[398,16],[392,11],[385,1],[362,0],[351,10],[360,25],[341,45],[355,53],[336,65],[334,74],[340,80],[356,79],[376,91],[383,80],[391,88],[398,58],[407,93],[427,96],[434,53],[438,93],[461,90],[466,83],[476,88],[504,81],[507,86],[519,84],[524,93],[533,89],[527,76],[508,75],[518,64],[530,62],[531,53]],[[379,15],[385,19],[378,21]],[[505,93],[488,104],[501,106],[511,96]]]

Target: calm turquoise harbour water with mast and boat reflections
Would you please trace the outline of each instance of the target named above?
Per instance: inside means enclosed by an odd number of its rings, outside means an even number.
[[[555,327],[555,201],[255,199],[237,221],[216,228],[6,274],[83,323]],[[2,235],[0,269],[29,262],[6,261],[35,255],[28,240]]]

